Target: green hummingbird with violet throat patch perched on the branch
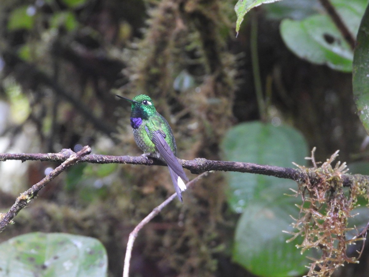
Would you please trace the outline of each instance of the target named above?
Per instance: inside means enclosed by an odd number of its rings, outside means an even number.
[[[177,146],[172,129],[165,118],[156,112],[154,103],[147,95],[135,96],[132,100],[117,95],[132,104],[131,126],[137,146],[144,151],[145,157],[154,157],[168,164],[170,177],[177,196],[182,201],[182,191],[186,189],[183,180],[188,178],[177,160]]]

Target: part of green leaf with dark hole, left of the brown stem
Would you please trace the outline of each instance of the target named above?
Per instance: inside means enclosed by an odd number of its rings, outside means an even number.
[[[280,33],[298,57],[351,72],[352,50],[328,16],[317,14],[301,21],[285,19],[280,24]]]

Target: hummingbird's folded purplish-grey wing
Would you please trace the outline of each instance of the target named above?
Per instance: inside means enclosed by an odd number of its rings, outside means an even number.
[[[165,141],[165,134],[163,133],[163,131],[150,131],[147,126],[145,126],[145,130],[148,136],[151,138],[151,141],[155,144],[155,147],[158,150],[160,156],[168,164],[168,167],[170,167],[184,181],[188,182],[188,178],[186,176],[186,173],[184,173],[183,171],[182,164],[179,163],[177,157],[170,149],[169,144]]]

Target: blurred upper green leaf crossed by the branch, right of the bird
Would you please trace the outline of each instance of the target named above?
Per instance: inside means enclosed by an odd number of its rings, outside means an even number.
[[[224,158],[258,164],[291,167],[292,162],[304,165],[308,154],[303,136],[288,126],[275,127],[262,122],[238,124],[225,135],[221,148]],[[291,180],[272,176],[227,172],[228,204],[242,212],[252,199],[272,202],[274,198],[296,187]],[[277,188],[276,193],[266,193],[267,188]]]

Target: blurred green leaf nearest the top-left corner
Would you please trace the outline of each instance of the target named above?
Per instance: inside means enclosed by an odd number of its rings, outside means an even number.
[[[11,11],[9,21],[8,21],[8,29],[18,30],[18,29],[31,29],[34,25],[34,14],[31,12],[31,6],[24,5],[16,8]]]

